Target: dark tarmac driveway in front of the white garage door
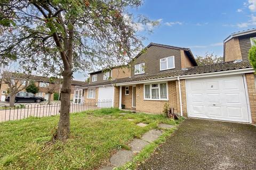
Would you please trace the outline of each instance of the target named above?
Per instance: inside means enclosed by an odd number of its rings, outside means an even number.
[[[189,118],[138,169],[256,169],[256,127]]]

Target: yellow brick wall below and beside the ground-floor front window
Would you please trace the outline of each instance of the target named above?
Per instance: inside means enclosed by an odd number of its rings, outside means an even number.
[[[144,100],[143,96],[143,84],[137,84],[136,86],[136,110],[139,112],[146,113],[163,113],[163,107],[166,102],[169,103],[170,107],[174,108],[174,112],[177,113],[177,94],[175,81],[168,82],[168,95],[169,101],[159,100]]]

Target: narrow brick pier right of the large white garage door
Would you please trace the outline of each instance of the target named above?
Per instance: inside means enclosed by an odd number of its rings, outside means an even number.
[[[247,89],[249,94],[252,124],[256,124],[256,88],[255,88],[255,75],[253,73],[245,74]]]

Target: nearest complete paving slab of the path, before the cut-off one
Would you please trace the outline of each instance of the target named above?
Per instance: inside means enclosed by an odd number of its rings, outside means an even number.
[[[133,152],[130,150],[121,150],[111,156],[110,164],[113,166],[123,166],[125,163],[132,160]]]

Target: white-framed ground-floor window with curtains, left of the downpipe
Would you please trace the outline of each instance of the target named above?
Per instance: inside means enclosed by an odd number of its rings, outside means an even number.
[[[144,99],[167,100],[167,83],[144,84]]]

